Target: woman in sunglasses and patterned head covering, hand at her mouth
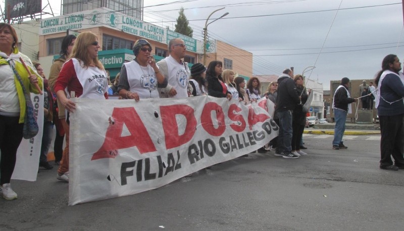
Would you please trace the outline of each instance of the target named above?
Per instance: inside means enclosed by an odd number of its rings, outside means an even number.
[[[118,93],[123,99],[139,101],[159,98],[157,85],[164,83],[165,79],[151,55],[151,50],[151,44],[146,39],[139,39],[133,45],[136,58],[124,63],[119,75]]]

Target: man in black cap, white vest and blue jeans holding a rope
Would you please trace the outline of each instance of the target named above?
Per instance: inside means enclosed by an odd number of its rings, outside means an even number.
[[[342,136],[345,132],[346,115],[352,113],[351,103],[358,102],[358,99],[350,98],[349,79],[344,77],[341,79],[341,84],[337,87],[332,101],[332,109],[334,110],[335,127],[334,140],[332,141],[332,149],[347,149],[343,142]]]

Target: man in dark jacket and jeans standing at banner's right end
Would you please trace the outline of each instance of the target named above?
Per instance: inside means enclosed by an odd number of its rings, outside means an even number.
[[[300,103],[296,84],[293,81],[293,71],[286,69],[278,78],[278,97],[276,98],[275,113],[279,118],[278,148],[275,156],[283,158],[298,158],[292,151],[292,113]]]

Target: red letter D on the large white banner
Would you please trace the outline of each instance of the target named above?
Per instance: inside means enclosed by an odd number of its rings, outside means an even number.
[[[179,147],[191,140],[196,127],[196,118],[193,108],[188,105],[161,106],[160,113],[163,120],[167,149]],[[185,132],[181,135],[178,131],[176,115],[183,115],[186,119]],[[182,124],[181,126],[183,127]]]

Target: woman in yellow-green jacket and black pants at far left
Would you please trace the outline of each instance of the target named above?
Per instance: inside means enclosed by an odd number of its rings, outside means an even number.
[[[35,84],[42,88],[42,78],[36,73],[31,60],[18,51],[17,45],[14,28],[8,23],[0,23],[0,193],[7,200],[17,199],[10,180],[23,137],[26,113],[24,89],[38,94]],[[20,57],[34,74],[28,74]]]

